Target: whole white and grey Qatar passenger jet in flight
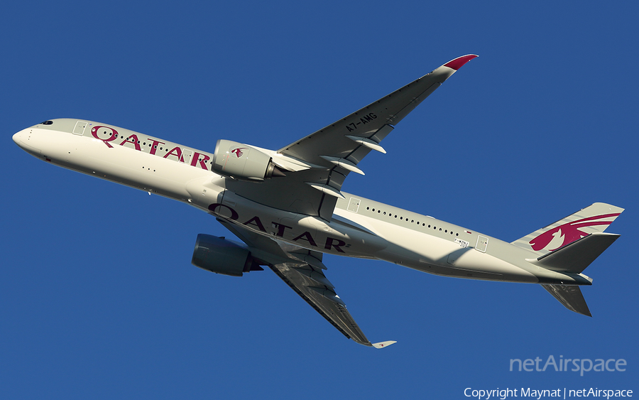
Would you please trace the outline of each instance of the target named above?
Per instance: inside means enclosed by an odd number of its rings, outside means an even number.
[[[619,237],[603,232],[623,208],[596,202],[508,243],[342,191],[349,173],[464,55],[277,151],[220,139],[202,151],[111,124],[50,119],[13,141],[62,168],[165,196],[209,213],[241,239],[198,234],[192,264],[242,276],[268,266],[337,330],[372,343],[327,279],[323,254],[379,259],[429,274],[537,283],[563,306],[591,316],[579,286],[584,269]]]

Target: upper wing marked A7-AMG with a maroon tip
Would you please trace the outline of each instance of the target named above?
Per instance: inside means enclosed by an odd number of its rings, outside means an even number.
[[[380,142],[442,82],[476,55],[464,55],[438,67],[333,124],[271,152],[286,172],[263,183],[226,180],[226,188],[263,205],[331,220],[342,183],[371,150],[386,153]]]

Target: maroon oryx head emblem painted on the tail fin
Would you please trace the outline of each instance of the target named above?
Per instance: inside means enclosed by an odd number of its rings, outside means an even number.
[[[532,239],[529,243],[535,252],[546,249],[553,252],[559,247],[570,244],[575,240],[579,240],[584,236],[588,236],[586,232],[580,231],[579,228],[594,227],[596,225],[610,225],[620,213],[596,215],[594,217],[582,218],[572,222],[567,222],[558,227],[552,228],[539,236]],[[612,219],[612,220],[610,220]]]

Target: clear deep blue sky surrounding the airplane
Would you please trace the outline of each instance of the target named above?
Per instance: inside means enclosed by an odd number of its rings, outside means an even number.
[[[582,2],[23,1],[0,13],[0,396],[466,399],[464,389],[639,389],[638,7]],[[344,190],[508,242],[625,207],[586,274],[594,318],[539,286],[327,256],[373,341],[346,340],[271,271],[190,264],[212,217],[47,165],[11,135],[102,121],[212,151],[280,148],[452,58]],[[549,355],[626,372],[509,372]]]

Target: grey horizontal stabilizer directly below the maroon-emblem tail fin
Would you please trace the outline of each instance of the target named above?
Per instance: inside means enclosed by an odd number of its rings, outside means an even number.
[[[540,256],[535,264],[553,271],[581,274],[587,266],[618,239],[618,234],[595,232]]]

